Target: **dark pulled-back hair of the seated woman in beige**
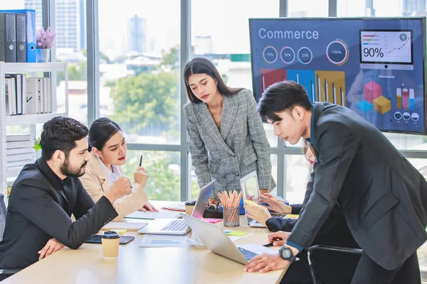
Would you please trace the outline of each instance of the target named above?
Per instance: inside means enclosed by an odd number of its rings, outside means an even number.
[[[120,126],[117,124],[117,122],[112,121],[107,117],[101,117],[93,121],[93,124],[90,126],[89,129],[88,151],[92,151],[92,147],[95,147],[99,151],[102,151],[102,148],[104,148],[105,143],[107,143],[107,141],[110,140],[110,138],[119,131],[122,131],[122,129],[120,129]]]

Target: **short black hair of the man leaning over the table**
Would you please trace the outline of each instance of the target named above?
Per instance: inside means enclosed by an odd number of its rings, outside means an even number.
[[[296,106],[312,110],[305,87],[294,81],[283,81],[272,84],[263,92],[257,110],[264,119],[275,122],[281,120],[278,116],[280,112],[291,112]]]

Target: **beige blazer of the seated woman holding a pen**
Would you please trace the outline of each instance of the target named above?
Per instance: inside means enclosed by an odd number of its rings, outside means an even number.
[[[88,161],[86,165],[85,175],[80,177],[80,181],[83,184],[83,187],[88,191],[90,197],[92,197],[94,202],[97,202],[104,192],[110,190],[111,183],[107,178],[102,164],[97,159],[94,153],[90,153],[92,159]],[[121,171],[122,169],[120,169]],[[141,185],[135,184],[132,187],[132,193],[121,197],[114,202],[115,208],[119,216],[117,216],[113,221],[118,221],[125,217],[127,214],[137,211],[144,204],[148,202],[148,197],[145,194],[144,188]]]

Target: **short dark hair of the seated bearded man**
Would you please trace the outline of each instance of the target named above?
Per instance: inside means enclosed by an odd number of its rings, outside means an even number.
[[[89,130],[85,124],[69,117],[56,116],[43,125],[40,145],[41,155],[45,160],[51,160],[53,153],[60,150],[68,154],[75,148],[75,141],[88,136]]]

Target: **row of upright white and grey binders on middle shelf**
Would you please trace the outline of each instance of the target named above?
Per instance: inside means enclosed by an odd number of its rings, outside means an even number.
[[[6,115],[52,112],[51,78],[6,74]]]

